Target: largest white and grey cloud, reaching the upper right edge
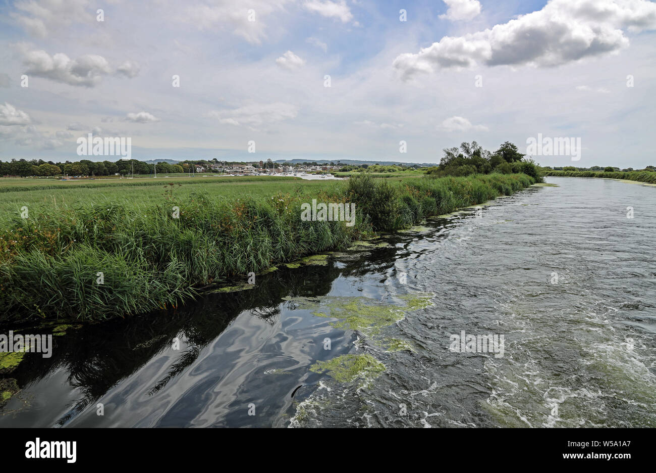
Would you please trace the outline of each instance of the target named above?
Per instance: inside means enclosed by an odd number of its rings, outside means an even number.
[[[656,29],[656,3],[647,0],[550,0],[474,34],[445,36],[417,54],[397,56],[403,79],[441,68],[520,65],[558,66],[628,46],[623,30]]]

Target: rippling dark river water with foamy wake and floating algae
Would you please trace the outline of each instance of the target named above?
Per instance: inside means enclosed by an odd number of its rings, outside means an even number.
[[[0,374],[22,388],[0,426],[656,426],[656,187],[547,179],[251,290],[68,328]],[[503,356],[450,351],[462,330]],[[344,355],[369,369],[315,365]]]

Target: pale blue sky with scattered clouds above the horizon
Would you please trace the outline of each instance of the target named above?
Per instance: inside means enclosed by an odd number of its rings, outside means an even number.
[[[648,0],[3,1],[0,160],[79,160],[91,132],[144,160],[423,163],[541,133],[583,148],[545,166],[656,165],[655,31]]]

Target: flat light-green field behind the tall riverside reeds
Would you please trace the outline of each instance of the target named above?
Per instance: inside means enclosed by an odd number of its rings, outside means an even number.
[[[226,198],[272,196],[278,191],[292,194],[316,193],[337,181],[304,181],[297,177],[240,176],[184,177],[178,179],[0,179],[0,215],[32,208],[68,208],[94,202],[130,202],[150,205],[165,200],[165,188],[173,195],[188,198],[193,192],[207,191],[211,196]],[[171,186],[173,184],[173,186]],[[1,220],[0,216],[0,220]]]

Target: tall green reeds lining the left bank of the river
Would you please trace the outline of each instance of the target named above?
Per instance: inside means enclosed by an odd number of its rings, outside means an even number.
[[[41,204],[26,219],[10,212],[0,219],[0,320],[100,320],[177,305],[216,282],[246,281],[251,271],[345,248],[534,182],[523,174],[400,182],[363,175],[268,198],[198,189],[155,204],[115,196]],[[302,221],[301,205],[312,198],[355,203],[355,224]]]

